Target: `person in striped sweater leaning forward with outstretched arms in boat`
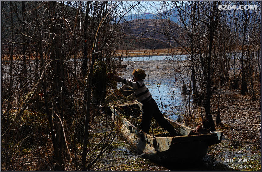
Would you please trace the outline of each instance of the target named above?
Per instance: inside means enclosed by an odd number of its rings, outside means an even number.
[[[122,82],[134,88],[136,99],[142,103],[142,121],[141,130],[149,134],[149,129],[151,125],[152,116],[155,118],[156,122],[169,132],[170,136],[176,134],[174,127],[165,119],[163,114],[158,108],[156,101],[153,99],[148,88],[144,84],[145,71],[142,69],[134,69],[134,75],[132,80],[122,78],[114,75],[113,73],[107,73],[108,77],[112,80]]]

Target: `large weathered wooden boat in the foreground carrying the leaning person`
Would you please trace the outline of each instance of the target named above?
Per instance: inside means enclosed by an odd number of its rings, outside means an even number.
[[[144,133],[131,123],[141,118],[142,112],[142,104],[135,100],[133,88],[124,85],[119,90],[126,99],[109,104],[113,123],[131,148],[151,161],[157,163],[195,162],[206,155],[208,146],[221,142],[222,131],[188,136],[193,129],[168,118],[166,119],[177,131],[178,136],[168,136],[167,133],[154,136],[153,129],[152,135]],[[114,96],[117,96],[116,93],[109,95],[108,98]]]

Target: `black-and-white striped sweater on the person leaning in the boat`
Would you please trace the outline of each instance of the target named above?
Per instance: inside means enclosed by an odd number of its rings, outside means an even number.
[[[145,103],[152,99],[152,95],[150,94],[148,88],[145,86],[144,80],[133,82],[132,80],[120,77],[120,82],[134,88],[135,97],[139,102]]]

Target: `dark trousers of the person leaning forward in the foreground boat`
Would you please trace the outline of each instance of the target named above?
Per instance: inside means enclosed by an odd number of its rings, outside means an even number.
[[[174,127],[165,119],[161,111],[158,109],[156,101],[152,98],[142,105],[142,121],[141,130],[149,134],[149,129],[151,125],[152,116],[155,118],[156,122],[166,129],[170,134],[175,133]]]

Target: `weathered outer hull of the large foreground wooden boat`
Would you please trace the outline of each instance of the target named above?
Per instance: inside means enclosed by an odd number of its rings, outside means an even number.
[[[126,104],[134,103],[136,102],[132,101]],[[130,144],[131,148],[135,150],[138,155],[141,154],[157,163],[195,162],[206,155],[208,146],[217,144],[222,139],[223,132],[187,136],[193,129],[170,119],[168,119],[168,121],[182,136],[153,137],[131,124],[117,111],[116,106],[110,105],[112,120],[124,140]]]

